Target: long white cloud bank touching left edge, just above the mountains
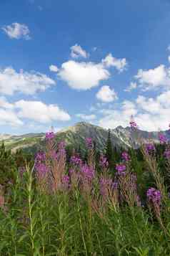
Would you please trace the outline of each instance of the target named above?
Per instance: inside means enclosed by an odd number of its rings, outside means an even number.
[[[56,104],[46,105],[41,101],[19,100],[9,103],[6,98],[0,97],[0,124],[19,126],[26,120],[36,122],[35,125],[51,123],[52,121],[67,121],[71,117],[65,110]],[[27,123],[30,125],[30,123]]]

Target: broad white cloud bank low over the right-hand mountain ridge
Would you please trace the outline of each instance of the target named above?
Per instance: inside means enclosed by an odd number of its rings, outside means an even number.
[[[139,95],[134,101],[125,100],[119,108],[101,110],[103,117],[99,125],[104,128],[116,128],[129,125],[131,115],[141,130],[159,131],[169,128],[170,90],[156,98]]]

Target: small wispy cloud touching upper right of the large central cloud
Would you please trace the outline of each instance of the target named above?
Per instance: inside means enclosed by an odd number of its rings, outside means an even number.
[[[103,60],[102,63],[106,67],[115,67],[119,72],[122,72],[125,70],[127,66],[126,59],[116,59],[115,57],[112,56],[111,53],[109,53]]]

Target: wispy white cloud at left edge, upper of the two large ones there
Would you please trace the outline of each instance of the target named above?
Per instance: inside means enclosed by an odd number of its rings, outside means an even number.
[[[0,93],[13,95],[16,92],[34,95],[38,91],[45,91],[54,80],[39,72],[16,72],[12,67],[0,70]]]

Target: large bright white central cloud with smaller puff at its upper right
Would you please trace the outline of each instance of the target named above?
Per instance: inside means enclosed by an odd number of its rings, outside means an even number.
[[[86,54],[81,52],[81,57],[83,55],[84,57],[86,56]],[[116,67],[116,69],[121,72],[126,68],[126,65],[126,59],[116,59],[112,57],[111,54],[107,55],[106,58],[101,60],[99,63],[69,60],[61,65],[58,77],[61,80],[64,80],[69,87],[73,89],[88,90],[92,87],[98,86],[99,82],[102,80],[109,79],[111,75],[109,67]]]

